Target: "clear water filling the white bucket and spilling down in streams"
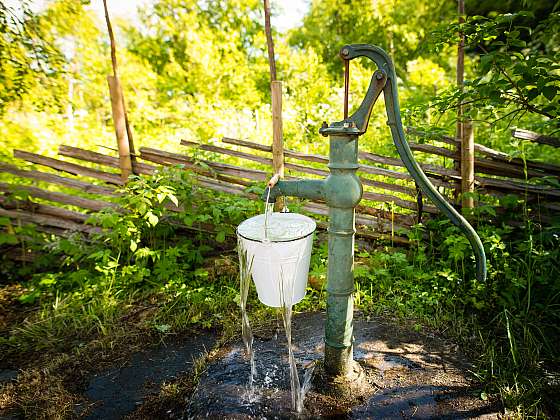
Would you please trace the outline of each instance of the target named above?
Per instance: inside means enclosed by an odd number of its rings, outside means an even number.
[[[270,194],[270,190],[268,192]],[[247,236],[254,236],[254,239],[260,239],[264,246],[270,244],[271,240],[282,240],[284,238],[293,238],[301,235],[302,232],[305,230],[309,230],[310,226],[306,225],[305,223],[302,225],[301,219],[298,219],[299,223],[276,223],[276,220],[271,217],[273,214],[273,203],[268,203],[267,197],[267,204],[265,209],[265,214],[262,216],[254,217],[250,220],[250,223],[245,222],[244,226],[244,234]],[[263,220],[264,219],[264,220]],[[314,230],[313,223],[312,230]],[[311,230],[311,231],[312,231]],[[248,395],[247,400],[249,402],[255,401],[257,398],[255,394],[255,387],[254,387],[254,380],[256,377],[256,366],[255,366],[255,355],[253,352],[253,333],[251,330],[251,326],[249,324],[249,318],[247,315],[247,296],[249,292],[249,287],[251,285],[251,269],[253,265],[253,259],[249,257],[249,253],[246,249],[244,249],[242,245],[242,241],[239,241],[238,246],[239,252],[239,262],[240,262],[240,297],[241,297],[241,313],[242,313],[242,337],[243,343],[245,345],[245,352],[249,359],[251,371],[249,376],[249,384],[248,384]],[[298,261],[296,262],[296,267],[299,265],[299,260],[301,259],[301,255],[298,256]],[[289,372],[290,372],[290,385],[291,385],[291,400],[292,400],[292,409],[298,413],[303,410],[303,402],[305,399],[306,393],[309,391],[311,387],[311,378],[313,375],[314,366],[310,366],[306,369],[303,383],[300,384],[298,371],[297,371],[297,363],[294,357],[293,346],[292,346],[292,302],[294,301],[294,282],[295,282],[295,275],[296,272],[289,273],[291,278],[287,279],[288,281],[284,281],[282,267],[280,267],[280,281],[278,282],[280,300],[281,300],[281,308],[280,312],[282,314],[282,321],[284,324],[284,330],[286,332],[286,341],[288,347],[288,363],[289,363]],[[293,278],[292,278],[293,277]],[[266,374],[266,372],[265,372]]]

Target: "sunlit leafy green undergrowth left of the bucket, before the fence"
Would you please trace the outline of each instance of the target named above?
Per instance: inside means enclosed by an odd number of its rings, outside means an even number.
[[[40,305],[43,323],[13,331],[9,345],[38,349],[37,329],[49,330],[46,347],[108,334],[133,302],[146,299],[157,302],[149,325],[161,333],[209,327],[235,305],[237,270],[209,273],[208,256],[234,250],[236,226],[260,201],[200,188],[180,169],[133,177],[119,192],[119,208],[87,221],[95,233],[40,236],[41,256],[20,273],[28,280],[19,301]]]

